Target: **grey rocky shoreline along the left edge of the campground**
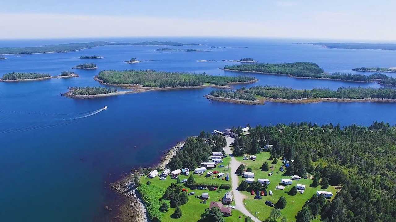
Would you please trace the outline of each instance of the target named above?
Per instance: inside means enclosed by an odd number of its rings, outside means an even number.
[[[165,168],[166,164],[168,164],[171,158],[177,154],[177,151],[179,151],[184,144],[185,141],[180,141],[174,147],[164,152],[164,155],[154,168]],[[132,169],[125,177],[110,184],[110,188],[124,198],[114,219],[120,222],[149,222],[145,203],[141,199],[133,183],[134,172],[137,172],[137,169]],[[109,206],[105,206],[105,209],[108,211],[112,210]]]

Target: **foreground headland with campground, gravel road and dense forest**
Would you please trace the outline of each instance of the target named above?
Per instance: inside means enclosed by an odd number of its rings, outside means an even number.
[[[156,222],[252,222],[254,216],[263,222],[392,221],[395,126],[242,127],[230,127],[232,137],[227,131],[188,137],[160,164],[132,169],[112,188],[130,199],[139,194],[148,219]],[[222,163],[196,171],[213,152]],[[253,182],[246,182],[247,173],[254,173]],[[224,203],[228,192],[233,198]]]

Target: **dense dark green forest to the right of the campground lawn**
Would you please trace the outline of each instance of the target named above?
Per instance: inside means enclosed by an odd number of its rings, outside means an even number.
[[[235,140],[235,156],[257,153],[257,143],[271,144],[271,158],[289,160],[287,175],[310,173],[314,175],[310,186],[339,186],[331,202],[312,196],[296,215],[297,222],[319,215],[324,222],[395,221],[395,126],[373,122],[369,127],[341,128],[301,122],[258,125],[249,133]]]

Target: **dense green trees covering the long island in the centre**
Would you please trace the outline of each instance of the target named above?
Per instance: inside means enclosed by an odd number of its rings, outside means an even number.
[[[105,70],[97,79],[108,84],[142,85],[143,87],[195,87],[204,85],[226,86],[230,83],[250,83],[257,81],[247,76],[221,76],[206,73],[182,73],[154,70]]]

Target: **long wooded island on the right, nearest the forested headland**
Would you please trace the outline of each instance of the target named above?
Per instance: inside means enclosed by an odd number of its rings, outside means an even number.
[[[297,90],[286,87],[255,86],[239,90],[213,90],[206,98],[224,102],[263,104],[312,102],[396,102],[394,88],[340,87],[337,90],[314,88]]]

